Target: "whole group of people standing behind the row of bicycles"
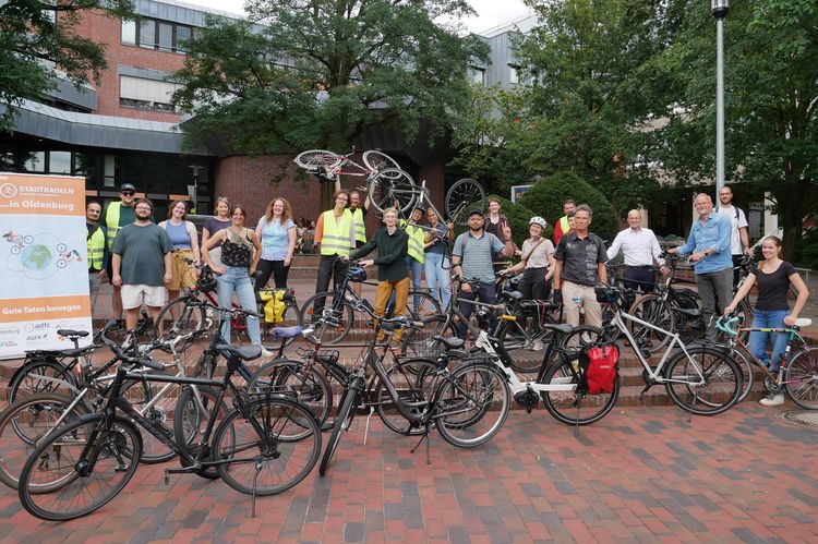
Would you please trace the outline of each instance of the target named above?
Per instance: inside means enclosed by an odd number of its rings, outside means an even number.
[[[563,203],[564,216],[554,221],[553,243],[544,237],[545,219],[536,216],[529,221],[529,238],[518,249],[497,200],[490,200],[488,213],[470,210],[468,229],[456,239],[454,225],[444,225],[433,209],[422,206],[411,211],[409,220],[400,219],[396,208],[384,210],[384,226],[369,237],[365,226],[369,197],[362,198],[358,191],[347,191],[336,181],[334,206],[314,221],[314,232],[313,225],[303,219],[301,227],[296,226],[286,198],[270,201],[253,229],[244,226],[246,211],[242,206],[230,206],[227,198],[220,197],[214,216],[202,229],[200,245],[196,229],[187,220],[187,203],[171,203],[168,218],[155,225],[153,204],[147,198],[135,200],[135,192],[133,184],[123,184],[120,201],[111,203],[105,214],[96,201],[86,207],[92,305],[96,302],[99,283],[109,277],[113,285],[113,310],[121,315],[124,309],[129,330],[135,327],[143,304],[156,317],[168,297],[173,300],[180,289],[195,283],[195,274],[191,274],[195,268],[190,263],[206,263],[216,273],[222,307],[229,307],[236,295],[242,307],[255,310],[254,288],[266,286],[270,277],[277,289],[287,288],[299,240],[304,252],[320,247],[315,292],[327,291],[330,279],[337,287],[350,258],[361,259],[377,250],[376,257],[360,262],[363,266],[377,266],[376,315],[383,315],[393,292],[395,313],[402,315],[410,286],[420,288],[423,276],[430,291],[446,307],[452,297],[452,280],[459,283],[459,299],[479,299],[493,304],[497,295],[495,275],[521,273],[519,290],[524,298],[560,300],[566,323],[578,325],[584,313],[586,324],[601,326],[602,312],[594,287],[608,283],[605,263],[609,259],[619,252],[624,254],[624,285],[634,290],[653,290],[655,266],[662,274],[667,273],[657,237],[641,227],[638,209],[628,213],[628,228],[605,247],[603,240],[590,230],[591,208],[577,205],[570,198]],[[714,319],[718,309],[724,313],[734,311],[754,286],[759,290],[754,328],[792,326],[808,295],[793,265],[781,259],[781,240],[777,237],[763,240],[763,261],[733,294],[738,280],[737,264],[743,255],[753,255],[753,250],[746,216],[732,204],[732,198],[729,186],[720,190],[718,207],[713,206],[710,195],[698,194],[694,205],[699,218],[687,242],[669,250],[669,253],[689,255],[694,265],[709,342],[718,340]],[[303,241],[305,234],[311,238],[308,242]],[[520,256],[519,263],[507,268],[498,264],[503,257],[515,254]],[[790,286],[797,292],[792,311],[786,300]],[[357,288],[360,289],[360,285]],[[472,310],[472,304],[460,302],[459,311],[464,316],[470,316]],[[461,337],[466,330],[466,324],[460,323]],[[248,334],[253,343],[261,344],[256,318],[248,319]],[[222,325],[222,335],[227,339],[230,337],[228,319]],[[766,348],[770,341],[772,353],[768,355]],[[784,334],[754,331],[750,350],[775,371],[786,341]],[[534,346],[534,349],[542,349],[542,346]],[[773,395],[761,402],[779,404],[783,396]]]

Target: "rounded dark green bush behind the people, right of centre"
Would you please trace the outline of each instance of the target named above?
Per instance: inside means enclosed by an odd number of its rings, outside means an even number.
[[[529,189],[520,204],[541,215],[553,228],[563,216],[563,201],[574,198],[593,210],[591,232],[612,241],[618,230],[618,221],[611,202],[605,195],[574,172],[558,172],[544,178]]]

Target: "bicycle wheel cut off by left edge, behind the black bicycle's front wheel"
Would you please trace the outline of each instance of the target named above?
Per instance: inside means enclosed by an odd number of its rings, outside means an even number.
[[[0,413],[0,482],[17,488],[20,473],[37,440],[55,428],[71,400],[63,395],[39,392],[9,404]],[[77,404],[64,424],[85,413],[85,407]]]

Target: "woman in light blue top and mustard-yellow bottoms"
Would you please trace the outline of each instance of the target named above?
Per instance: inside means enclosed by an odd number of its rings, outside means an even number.
[[[173,279],[168,285],[168,302],[179,298],[179,291],[190,289],[196,285],[197,270],[191,266],[200,263],[199,233],[196,226],[188,220],[188,204],[184,201],[173,201],[168,208],[168,219],[159,227],[170,237],[173,244]],[[175,318],[178,316],[173,316]]]

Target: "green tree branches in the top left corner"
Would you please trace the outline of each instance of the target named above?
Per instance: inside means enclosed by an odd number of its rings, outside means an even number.
[[[0,2],[0,131],[14,128],[23,100],[43,100],[64,74],[77,88],[108,68],[105,45],[76,34],[83,13],[133,19],[132,0]],[[56,68],[55,68],[56,67]]]

